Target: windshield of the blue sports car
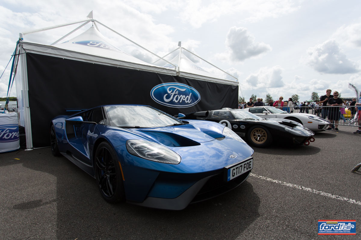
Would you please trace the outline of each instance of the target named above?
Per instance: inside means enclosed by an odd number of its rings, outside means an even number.
[[[114,127],[165,127],[183,124],[156,109],[145,106],[105,107],[110,126]]]

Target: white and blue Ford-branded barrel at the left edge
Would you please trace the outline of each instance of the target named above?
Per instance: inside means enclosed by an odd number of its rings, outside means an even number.
[[[20,148],[17,113],[0,114],[0,153]]]

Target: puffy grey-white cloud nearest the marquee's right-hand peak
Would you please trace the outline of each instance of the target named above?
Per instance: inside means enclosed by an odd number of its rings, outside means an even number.
[[[255,37],[248,33],[247,28],[231,27],[227,33],[226,52],[217,54],[222,60],[243,61],[271,51],[270,45],[256,42]]]

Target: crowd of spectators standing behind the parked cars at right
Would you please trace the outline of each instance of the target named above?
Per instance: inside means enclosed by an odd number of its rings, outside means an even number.
[[[314,109],[314,114],[317,116],[320,116],[321,114],[323,119],[326,119],[327,117],[327,120],[332,123],[326,130],[336,131],[339,131],[338,124],[340,119],[344,122],[351,121],[357,113],[357,123],[360,127],[358,127],[358,130],[353,133],[361,134],[361,107],[352,107],[361,106],[361,97],[358,99],[358,102],[356,102],[356,98],[353,98],[352,101],[343,101],[339,98],[338,91],[334,91],[332,95],[331,92],[331,89],[327,89],[326,95],[321,96],[319,101],[314,103],[310,103],[308,101],[294,103],[292,98],[288,98],[288,101],[283,101],[283,97],[280,96],[277,101],[273,102],[271,99],[265,104],[262,98],[257,98],[256,102],[253,102],[253,98],[249,98],[248,103],[239,103],[238,108],[244,109],[260,106],[273,106],[288,113],[293,113],[293,111],[297,109],[300,110],[300,113],[309,113],[310,109]],[[345,107],[347,106],[351,106],[351,117],[349,119],[345,119],[344,117],[344,114],[346,113]]]

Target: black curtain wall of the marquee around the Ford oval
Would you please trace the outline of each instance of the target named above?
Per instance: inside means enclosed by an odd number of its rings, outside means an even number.
[[[66,108],[87,109],[103,104],[144,104],[166,113],[238,107],[238,86],[93,64],[41,54],[26,54],[31,133],[34,148],[49,146],[49,127]],[[168,107],[151,98],[161,83],[183,83],[201,99],[187,108]]]

